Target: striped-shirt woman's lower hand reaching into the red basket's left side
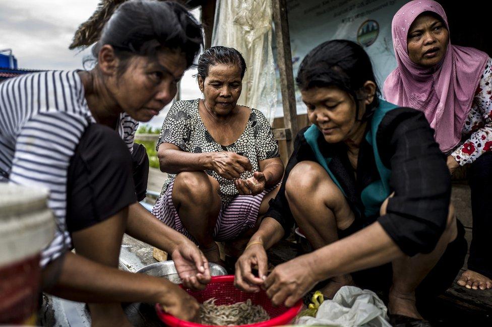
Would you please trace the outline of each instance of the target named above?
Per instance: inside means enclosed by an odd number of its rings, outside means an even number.
[[[182,320],[197,320],[200,308],[197,300],[179,286],[166,283],[165,291],[160,298],[157,303],[166,313]]]

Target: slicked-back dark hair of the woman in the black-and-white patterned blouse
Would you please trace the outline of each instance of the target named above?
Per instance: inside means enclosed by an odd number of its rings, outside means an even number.
[[[241,69],[241,79],[246,72],[246,62],[241,52],[225,46],[213,46],[205,50],[198,59],[198,74],[202,79],[208,76],[210,66],[216,64],[235,64]]]

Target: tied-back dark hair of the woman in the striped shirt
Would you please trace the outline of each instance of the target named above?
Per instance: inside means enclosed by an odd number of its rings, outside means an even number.
[[[92,48],[97,58],[104,44],[113,47],[125,71],[134,55],[154,56],[161,49],[180,50],[192,66],[203,44],[201,25],[178,3],[130,0],[121,4],[101,31]]]

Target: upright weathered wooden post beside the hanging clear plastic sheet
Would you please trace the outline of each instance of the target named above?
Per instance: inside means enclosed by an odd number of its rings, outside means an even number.
[[[295,106],[294,75],[292,72],[292,52],[287,19],[286,0],[272,0],[273,22],[277,39],[277,63],[280,71],[280,89],[284,111],[284,127],[288,156],[292,154],[295,136],[298,132],[297,110]]]

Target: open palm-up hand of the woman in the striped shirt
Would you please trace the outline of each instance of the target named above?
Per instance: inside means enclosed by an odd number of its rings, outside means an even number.
[[[171,252],[171,257],[184,286],[203,290],[210,282],[208,261],[202,251],[190,240],[186,239],[176,245]]]

